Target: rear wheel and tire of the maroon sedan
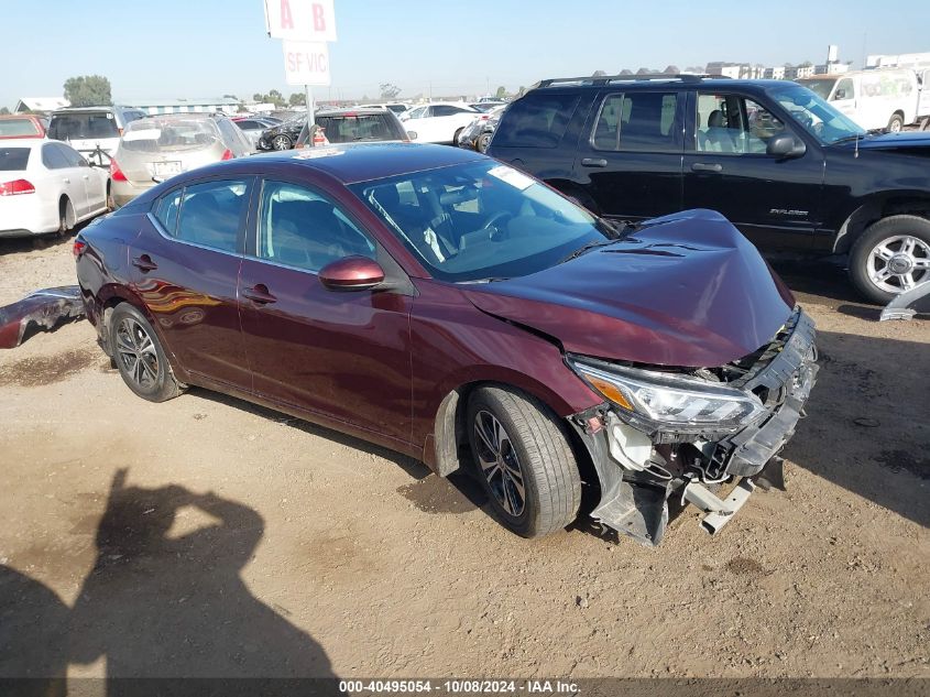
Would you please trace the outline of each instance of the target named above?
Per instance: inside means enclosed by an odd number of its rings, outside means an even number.
[[[182,393],[155,330],[128,303],[110,317],[110,350],[123,382],[143,400],[164,402]]]

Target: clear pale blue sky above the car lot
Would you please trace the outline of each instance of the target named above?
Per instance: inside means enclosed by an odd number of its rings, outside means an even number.
[[[263,0],[0,0],[0,107],[61,96],[76,75],[110,79],[117,104],[300,91],[284,80]],[[316,99],[510,91],[547,77],[711,61],[822,63],[828,44],[866,53],[930,52],[930,3],[883,12],[872,1],[335,0],[332,86]],[[17,28],[15,31],[9,31]]]

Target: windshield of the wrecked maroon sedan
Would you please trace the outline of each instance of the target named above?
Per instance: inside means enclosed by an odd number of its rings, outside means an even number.
[[[350,188],[435,277],[453,283],[536,273],[614,237],[584,209],[493,161]]]

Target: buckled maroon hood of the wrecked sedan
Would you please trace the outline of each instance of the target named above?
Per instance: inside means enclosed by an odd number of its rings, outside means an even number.
[[[463,292],[566,351],[691,368],[765,346],[795,306],[750,241],[711,210],[656,218],[571,261]]]

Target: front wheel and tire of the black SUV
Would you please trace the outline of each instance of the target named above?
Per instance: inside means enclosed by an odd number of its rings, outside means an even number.
[[[930,281],[930,220],[891,216],[869,226],[850,252],[850,275],[860,293],[882,304]]]

